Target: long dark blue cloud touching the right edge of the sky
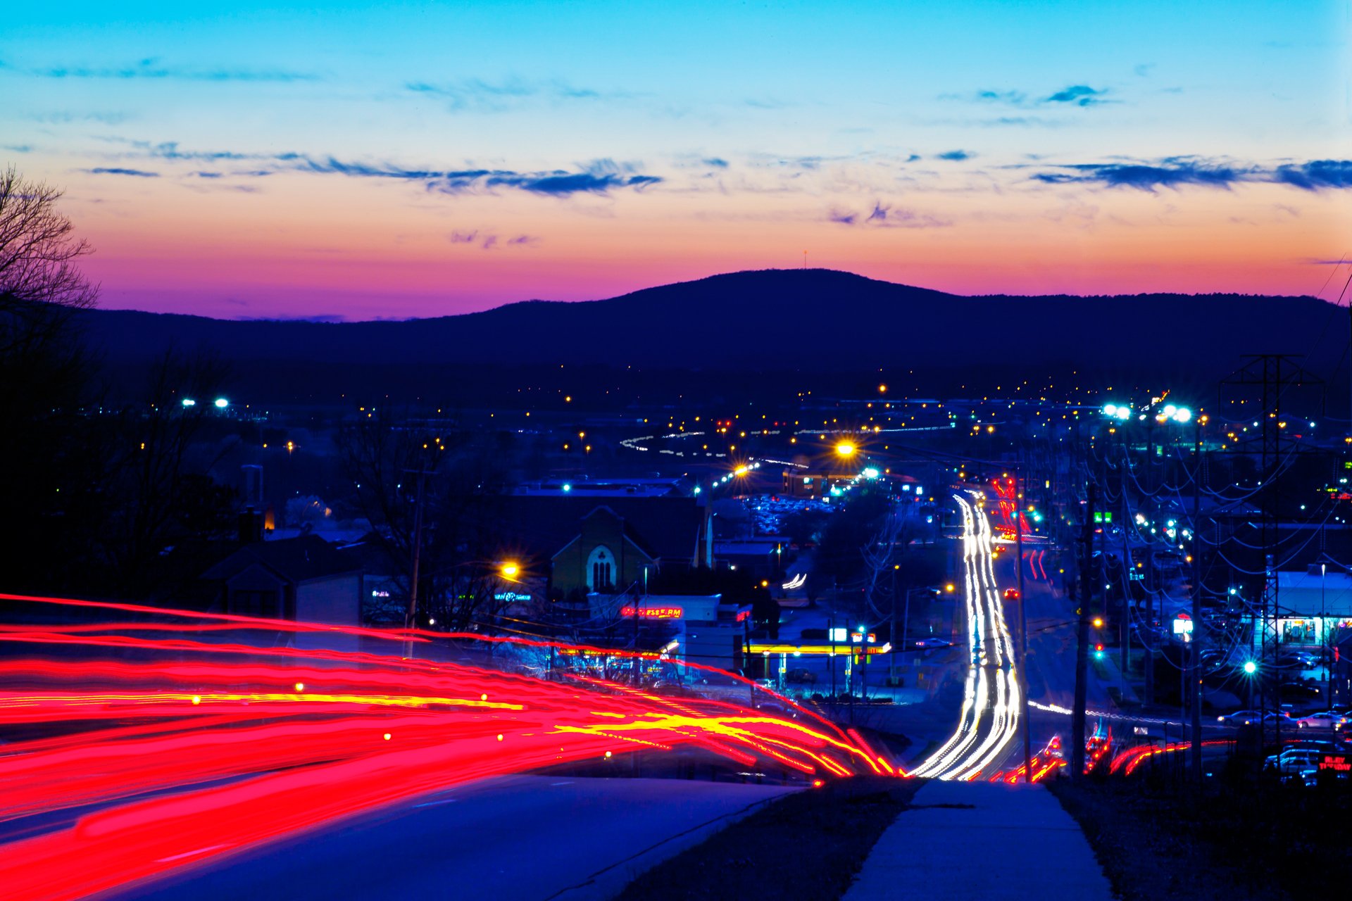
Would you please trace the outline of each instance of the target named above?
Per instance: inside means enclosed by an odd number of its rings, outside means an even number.
[[[1237,165],[1197,157],[1165,157],[1151,162],[1079,163],[1060,166],[1056,172],[1038,172],[1034,181],[1049,185],[1098,184],[1106,188],[1222,188],[1244,182],[1270,182],[1302,190],[1337,190],[1352,188],[1352,161],[1311,159],[1276,166]]]

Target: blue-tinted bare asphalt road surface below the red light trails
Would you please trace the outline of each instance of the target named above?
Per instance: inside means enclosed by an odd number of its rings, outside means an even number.
[[[677,779],[488,779],[108,897],[603,898],[788,790]]]

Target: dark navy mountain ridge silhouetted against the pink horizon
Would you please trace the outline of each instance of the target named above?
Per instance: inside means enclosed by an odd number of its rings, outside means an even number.
[[[1332,376],[1348,330],[1314,297],[960,296],[823,269],[740,272],[596,301],[525,301],[406,321],[216,320],[91,311],[115,366],[169,346],[211,350],[262,378],[310,367],[542,366],[646,370],[1065,373],[1214,386],[1242,354],[1303,354]],[[955,384],[956,388],[956,384]]]

